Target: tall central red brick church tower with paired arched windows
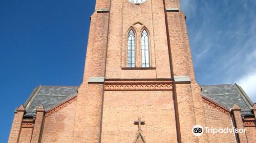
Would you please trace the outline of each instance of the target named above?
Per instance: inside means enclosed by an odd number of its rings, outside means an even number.
[[[200,90],[179,1],[96,1],[74,142],[197,141]]]

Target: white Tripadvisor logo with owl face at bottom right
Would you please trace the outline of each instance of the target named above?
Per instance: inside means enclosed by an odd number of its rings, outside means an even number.
[[[245,133],[246,129],[236,129],[236,128],[212,128],[212,127],[205,127],[203,128],[201,125],[195,125],[192,128],[192,133],[195,136],[201,136],[204,132],[205,133],[211,133],[211,134],[217,134],[217,133]]]

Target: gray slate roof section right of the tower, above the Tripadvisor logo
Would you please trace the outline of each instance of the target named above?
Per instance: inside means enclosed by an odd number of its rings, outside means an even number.
[[[242,114],[251,114],[250,110],[253,103],[239,85],[204,85],[201,88],[204,95],[229,109],[237,104],[242,108]]]

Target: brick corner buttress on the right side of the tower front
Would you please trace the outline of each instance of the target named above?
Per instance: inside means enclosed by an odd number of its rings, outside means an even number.
[[[170,4],[169,1],[165,1],[165,8],[178,8],[179,1],[176,4]],[[193,134],[187,134],[186,131],[195,125],[205,125],[203,120],[204,109],[201,106],[201,88],[197,84],[194,74],[193,61],[191,57],[188,35],[186,30],[185,15],[179,11],[166,12],[166,23],[168,29],[170,55],[172,58],[172,70],[174,76],[189,76],[191,83],[176,84],[177,90],[177,104],[179,108],[179,119],[181,126],[181,141],[199,141],[207,142],[207,137],[201,136],[200,138],[195,137]],[[188,102],[190,101],[190,102]],[[184,107],[186,108],[187,117],[184,113]],[[189,124],[190,123],[190,124]],[[188,126],[185,126],[188,125]]]

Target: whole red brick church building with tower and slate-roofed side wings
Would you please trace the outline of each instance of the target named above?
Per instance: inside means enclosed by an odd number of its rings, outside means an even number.
[[[185,19],[179,0],[97,0],[83,82],[36,87],[8,142],[256,142],[243,89],[196,82]]]

